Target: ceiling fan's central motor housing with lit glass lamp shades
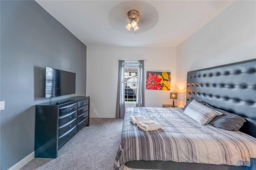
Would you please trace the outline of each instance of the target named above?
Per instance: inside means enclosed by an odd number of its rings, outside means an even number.
[[[137,10],[130,10],[128,11],[127,15],[128,17],[126,17],[126,21],[128,22],[126,29],[130,31],[130,28],[134,28],[134,31],[140,29],[138,27],[138,24],[140,24],[141,22],[141,18],[139,17],[139,12]]]

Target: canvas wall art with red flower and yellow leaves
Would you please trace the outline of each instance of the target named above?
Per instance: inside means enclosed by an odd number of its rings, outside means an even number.
[[[146,89],[149,90],[170,90],[171,72],[147,72]]]

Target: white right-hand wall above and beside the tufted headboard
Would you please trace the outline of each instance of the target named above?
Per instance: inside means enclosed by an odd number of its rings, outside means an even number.
[[[186,74],[256,58],[255,1],[236,1],[176,48],[176,89],[186,104]]]

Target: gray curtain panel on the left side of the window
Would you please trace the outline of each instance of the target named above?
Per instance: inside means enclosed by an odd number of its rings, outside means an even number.
[[[118,64],[118,87],[116,98],[116,118],[124,118],[124,60],[119,60]]]

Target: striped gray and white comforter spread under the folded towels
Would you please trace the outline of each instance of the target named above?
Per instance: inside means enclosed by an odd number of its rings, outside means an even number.
[[[159,122],[162,129],[141,130],[130,122],[135,115]],[[252,136],[201,125],[181,108],[127,108],[114,170],[132,160],[250,166],[250,158],[256,158],[256,138]]]

